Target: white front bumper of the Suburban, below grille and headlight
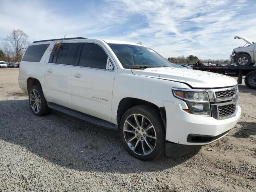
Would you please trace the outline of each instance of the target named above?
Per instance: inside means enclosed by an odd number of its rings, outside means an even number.
[[[241,116],[239,106],[234,116],[217,120],[213,117],[184,112],[180,104],[172,102],[163,102],[163,104],[166,110],[166,140],[174,144],[194,146],[210,144],[228,134]],[[210,140],[204,140],[204,138],[202,140],[202,136]]]

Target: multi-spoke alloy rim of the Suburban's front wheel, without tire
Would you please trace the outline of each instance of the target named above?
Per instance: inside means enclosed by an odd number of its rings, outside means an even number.
[[[132,114],[124,123],[124,139],[128,147],[138,155],[148,155],[156,147],[156,131],[146,116]]]

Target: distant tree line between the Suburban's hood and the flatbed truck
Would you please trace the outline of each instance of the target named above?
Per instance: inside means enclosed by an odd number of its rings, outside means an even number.
[[[176,64],[194,64],[196,62],[198,62],[198,60],[200,60],[197,56],[187,56],[185,57],[184,55],[182,56],[178,56],[178,57],[169,57],[168,61],[171,63],[176,63]],[[230,60],[229,59],[218,59],[218,60],[214,60],[214,59],[201,59],[201,61],[203,63],[214,63],[214,64],[229,64]]]

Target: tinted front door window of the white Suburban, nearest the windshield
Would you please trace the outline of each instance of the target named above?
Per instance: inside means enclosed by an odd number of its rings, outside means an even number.
[[[97,44],[84,43],[79,66],[106,69],[108,56]]]

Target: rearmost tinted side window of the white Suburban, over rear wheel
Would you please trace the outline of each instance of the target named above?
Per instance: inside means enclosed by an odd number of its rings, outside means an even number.
[[[28,46],[22,61],[40,62],[45,50],[50,44],[30,45]]]

